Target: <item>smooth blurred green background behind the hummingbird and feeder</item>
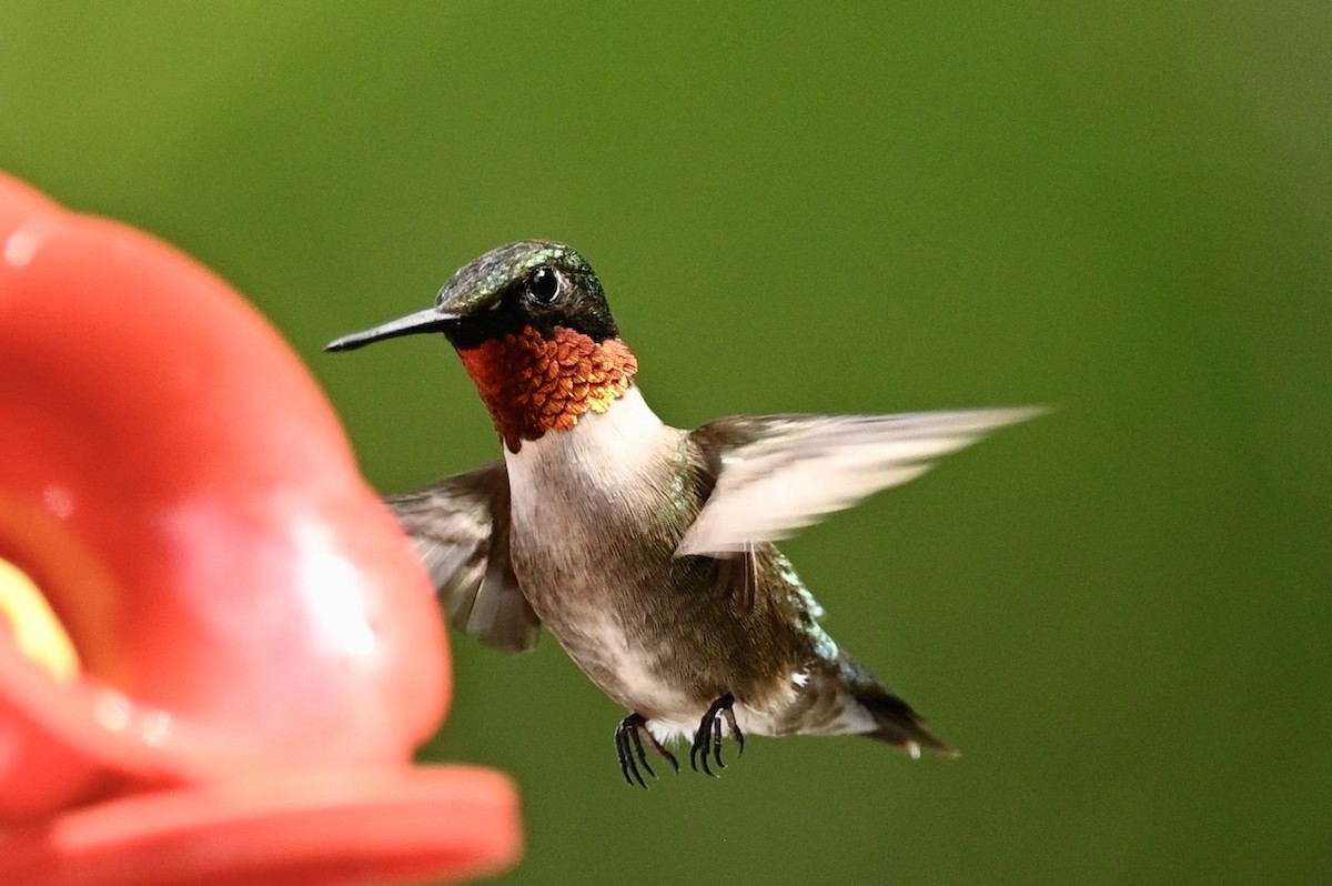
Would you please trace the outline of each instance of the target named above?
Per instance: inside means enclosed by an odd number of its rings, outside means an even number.
[[[240,286],[385,490],[489,420],[438,341],[321,345],[519,237],[674,424],[1059,406],[786,545],[958,761],[630,790],[549,637],[454,636],[506,882],[1329,882],[1332,7],[999,5],[5,0],[0,167]]]

